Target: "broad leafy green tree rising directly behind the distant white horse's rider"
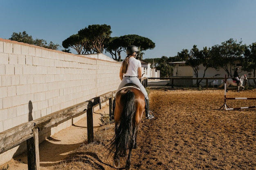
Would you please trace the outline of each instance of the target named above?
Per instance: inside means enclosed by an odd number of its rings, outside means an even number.
[[[228,77],[232,77],[232,70],[236,67],[236,62],[241,60],[244,51],[245,45],[242,45],[242,40],[237,43],[232,38],[221,45],[212,46],[213,68],[223,68]]]

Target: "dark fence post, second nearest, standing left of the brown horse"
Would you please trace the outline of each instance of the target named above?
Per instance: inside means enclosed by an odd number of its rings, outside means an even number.
[[[92,119],[92,100],[88,101],[87,106],[87,136],[88,136],[88,144],[93,142],[93,119]]]

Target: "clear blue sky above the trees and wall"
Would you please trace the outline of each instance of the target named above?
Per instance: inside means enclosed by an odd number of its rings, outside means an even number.
[[[256,0],[0,0],[0,38],[26,31],[62,45],[89,25],[107,24],[112,37],[137,34],[155,42],[144,59],[173,57],[230,38],[256,42],[255,7]]]

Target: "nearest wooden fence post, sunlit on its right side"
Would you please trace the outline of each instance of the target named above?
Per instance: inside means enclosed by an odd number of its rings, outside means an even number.
[[[28,170],[39,170],[40,160],[38,128],[35,128],[32,131],[33,137],[27,139],[27,166]]]

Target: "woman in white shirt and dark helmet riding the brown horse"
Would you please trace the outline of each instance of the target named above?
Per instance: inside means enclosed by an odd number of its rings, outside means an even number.
[[[139,49],[137,46],[131,45],[126,49],[126,58],[121,64],[119,77],[121,79],[121,83],[117,89],[117,92],[123,88],[126,84],[132,83],[139,87],[140,91],[144,94],[146,100],[146,119],[153,119],[154,115],[150,114],[149,111],[149,101],[148,101],[148,93],[144,86],[142,86],[140,82],[140,78],[142,76],[141,71],[141,62],[136,59],[137,52]],[[152,113],[152,112],[151,112]]]

